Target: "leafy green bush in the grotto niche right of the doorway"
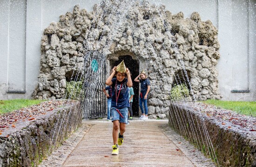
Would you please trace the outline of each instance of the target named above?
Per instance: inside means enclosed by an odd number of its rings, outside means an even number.
[[[184,83],[175,85],[171,89],[171,99],[173,101],[182,100],[189,96],[189,89]]]

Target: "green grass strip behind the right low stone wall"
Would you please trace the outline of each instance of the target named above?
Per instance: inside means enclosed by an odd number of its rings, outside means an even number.
[[[212,104],[222,109],[229,109],[236,113],[256,117],[256,102],[231,102],[220,100],[206,100],[202,103]]]

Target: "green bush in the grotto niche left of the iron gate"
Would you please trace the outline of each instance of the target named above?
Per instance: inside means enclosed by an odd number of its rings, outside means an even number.
[[[80,100],[80,98],[83,98],[82,86],[83,86],[82,81],[67,82],[67,87],[66,87],[67,96],[66,96],[66,99]]]

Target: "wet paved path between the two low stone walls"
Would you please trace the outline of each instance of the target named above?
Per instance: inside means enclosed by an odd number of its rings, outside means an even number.
[[[61,164],[63,167],[195,167],[163,133],[160,127],[167,123],[168,120],[130,121],[119,154],[111,155],[113,123],[86,121],[84,124],[92,126]]]

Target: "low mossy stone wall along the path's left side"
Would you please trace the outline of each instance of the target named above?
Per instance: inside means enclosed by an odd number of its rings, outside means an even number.
[[[71,101],[31,121],[19,121],[0,135],[0,166],[31,167],[81,125],[79,103]],[[75,121],[74,121],[75,120]]]

